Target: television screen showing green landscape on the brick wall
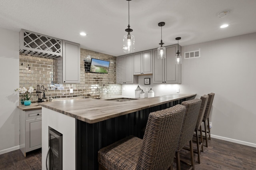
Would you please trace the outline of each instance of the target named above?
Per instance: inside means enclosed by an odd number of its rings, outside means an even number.
[[[109,61],[92,58],[90,73],[108,73]]]

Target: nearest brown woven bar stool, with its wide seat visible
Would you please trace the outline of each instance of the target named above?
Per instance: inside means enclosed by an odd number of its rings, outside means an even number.
[[[143,140],[128,136],[98,151],[99,170],[172,169],[186,107],[150,113]]]

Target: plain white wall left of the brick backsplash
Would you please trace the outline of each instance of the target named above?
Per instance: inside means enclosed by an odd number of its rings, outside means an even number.
[[[19,146],[19,33],[0,28],[0,154]]]

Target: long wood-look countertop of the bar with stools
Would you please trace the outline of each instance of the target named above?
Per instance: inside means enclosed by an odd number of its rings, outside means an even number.
[[[173,94],[123,102],[106,100],[123,97],[116,96],[104,99],[87,98],[54,101],[38,103],[38,105],[70,117],[74,117],[86,123],[97,123],[121,115],[126,115],[128,113],[140,111],[142,109],[147,109],[149,107],[194,96],[196,96],[196,94]]]

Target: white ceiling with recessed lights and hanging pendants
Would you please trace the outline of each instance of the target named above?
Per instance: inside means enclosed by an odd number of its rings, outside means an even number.
[[[130,28],[135,52],[164,45],[181,46],[256,32],[256,0],[132,0]],[[224,18],[217,14],[228,10]],[[220,25],[228,23],[227,28]],[[0,0],[0,27],[25,29],[80,43],[81,48],[124,55],[127,0]],[[86,36],[80,36],[85,32]]]

